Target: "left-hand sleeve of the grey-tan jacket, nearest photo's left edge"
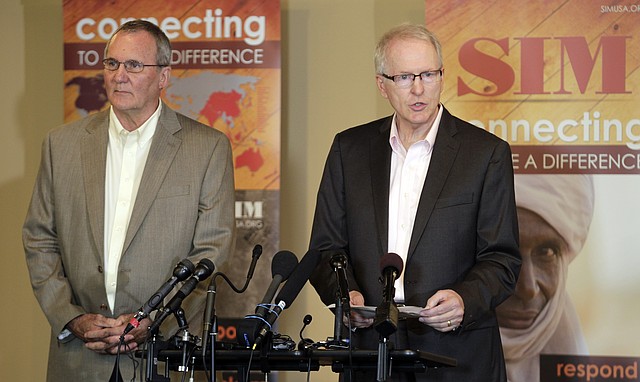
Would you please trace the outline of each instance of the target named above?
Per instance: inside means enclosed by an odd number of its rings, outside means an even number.
[[[51,138],[42,145],[40,169],[22,229],[22,241],[33,292],[51,324],[60,333],[85,311],[74,303],[63,267],[55,223]]]

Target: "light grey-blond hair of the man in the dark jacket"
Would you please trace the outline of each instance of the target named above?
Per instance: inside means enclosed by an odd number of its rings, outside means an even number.
[[[401,24],[389,30],[378,41],[378,45],[376,46],[375,54],[373,56],[376,74],[383,74],[385,72],[387,65],[387,48],[391,42],[396,39],[418,39],[433,45],[436,49],[438,60],[440,61],[440,67],[442,67],[442,47],[438,37],[436,37],[436,35],[428,30],[424,25]]]

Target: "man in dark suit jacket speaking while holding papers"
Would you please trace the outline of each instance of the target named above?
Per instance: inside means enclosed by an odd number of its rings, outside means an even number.
[[[352,306],[378,306],[380,258],[403,259],[395,300],[423,309],[399,321],[391,342],[455,358],[457,366],[394,379],[505,381],[495,308],[512,294],[521,262],[509,145],[440,103],[441,48],[423,26],[387,32],[375,62],[395,113],[335,137],[310,247],[347,254]],[[326,264],[311,282],[329,304],[336,285]],[[350,318],[353,346],[376,349],[373,319]]]

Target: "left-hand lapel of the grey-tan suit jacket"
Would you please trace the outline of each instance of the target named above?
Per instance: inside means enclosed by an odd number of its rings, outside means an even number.
[[[104,181],[109,141],[109,111],[103,111],[85,127],[87,135],[81,148],[89,229],[101,263],[104,258]]]

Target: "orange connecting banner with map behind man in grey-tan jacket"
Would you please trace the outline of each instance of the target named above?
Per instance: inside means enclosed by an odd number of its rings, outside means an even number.
[[[263,247],[244,298],[218,283],[216,313],[253,312],[271,282],[271,257],[279,246],[279,0],[69,0],[63,15],[65,122],[109,107],[102,59],[121,24],[146,19],[171,40],[171,80],[163,100],[222,131],[233,148],[237,243],[224,273],[241,287],[253,247]]]

